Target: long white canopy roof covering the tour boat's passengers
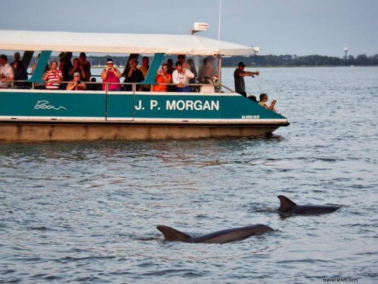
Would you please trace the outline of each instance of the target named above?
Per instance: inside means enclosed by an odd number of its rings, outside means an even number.
[[[0,50],[253,55],[255,49],[197,35],[0,30]]]

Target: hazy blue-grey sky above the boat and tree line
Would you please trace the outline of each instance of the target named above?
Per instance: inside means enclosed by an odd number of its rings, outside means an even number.
[[[1,0],[0,29],[218,38],[220,0]],[[7,11],[4,13],[4,11]],[[221,40],[260,54],[378,54],[378,0],[222,0]],[[0,35],[1,36],[1,35]]]

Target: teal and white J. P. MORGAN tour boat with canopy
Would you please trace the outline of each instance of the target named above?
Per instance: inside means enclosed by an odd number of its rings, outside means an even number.
[[[197,35],[9,30],[0,34],[0,50],[25,50],[26,66],[33,52],[40,52],[28,80],[31,89],[0,89],[1,141],[253,137],[289,125],[286,117],[221,84],[221,56],[252,55],[256,51],[252,47]],[[139,84],[155,84],[166,54],[215,56],[219,80],[187,93],[142,92],[136,84],[132,91],[34,89],[42,82],[51,53],[61,51],[153,55]]]

